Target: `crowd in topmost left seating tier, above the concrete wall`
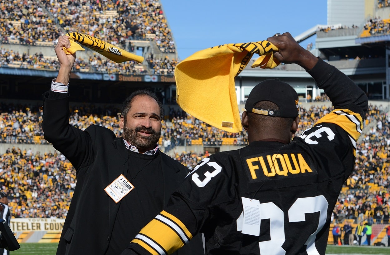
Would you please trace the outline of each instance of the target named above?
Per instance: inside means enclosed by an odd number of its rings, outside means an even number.
[[[2,43],[53,45],[59,35],[80,32],[126,50],[129,40],[150,38],[162,52],[176,52],[158,0],[2,0],[0,10]]]

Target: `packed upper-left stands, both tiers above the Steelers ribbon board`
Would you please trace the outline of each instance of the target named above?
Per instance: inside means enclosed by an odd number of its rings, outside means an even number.
[[[82,12],[79,12],[79,9]],[[159,1],[1,1],[0,66],[56,70],[55,56],[40,49],[52,48],[59,35],[80,32],[136,53],[137,42],[150,41],[157,49],[145,65],[134,61],[117,64],[89,54],[78,58],[75,71],[90,73],[172,75],[177,63],[172,33]],[[87,19],[86,17],[90,17]],[[131,20],[131,22],[129,21]],[[142,43],[141,43],[142,44]],[[39,46],[29,53],[15,45]],[[164,55],[165,54],[165,55]],[[168,55],[167,55],[168,54]]]

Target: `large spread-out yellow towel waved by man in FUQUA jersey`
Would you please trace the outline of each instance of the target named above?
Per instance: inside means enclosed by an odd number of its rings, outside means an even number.
[[[268,41],[223,44],[198,51],[175,68],[176,101],[187,113],[216,128],[242,130],[234,78],[254,53],[260,57],[252,67],[274,68],[278,48]]]

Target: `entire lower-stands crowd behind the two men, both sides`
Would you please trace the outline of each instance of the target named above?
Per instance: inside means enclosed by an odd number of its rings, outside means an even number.
[[[21,150],[15,143],[47,143],[43,139],[40,122],[42,109],[35,105],[0,104],[0,132],[2,143],[12,144],[0,155],[0,188],[9,193],[13,217],[64,218],[76,183],[75,170],[58,152],[41,153]],[[332,109],[325,106],[300,108],[300,128],[296,135],[309,128]],[[110,128],[117,136],[118,108],[94,105],[73,106],[70,123],[80,128],[97,124]],[[390,117],[382,106],[370,105],[365,122],[366,133],[357,144],[355,171],[340,193],[334,210],[334,221],[344,219],[388,222],[390,211]],[[246,132],[229,133],[213,128],[182,110],[169,108],[163,121],[160,149],[171,151],[178,145],[191,144],[201,139],[204,145],[222,144],[224,138],[233,138],[235,145],[247,143]],[[170,141],[165,147],[165,141]],[[168,143],[167,143],[168,144]],[[172,151],[171,151],[172,152]],[[170,153],[190,170],[208,152]]]

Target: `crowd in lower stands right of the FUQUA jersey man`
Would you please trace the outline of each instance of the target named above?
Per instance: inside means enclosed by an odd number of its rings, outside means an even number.
[[[371,108],[366,122],[374,120],[356,149],[355,170],[335,206],[334,220],[389,223],[390,211],[390,117],[380,108]],[[367,125],[366,126],[369,126]]]

